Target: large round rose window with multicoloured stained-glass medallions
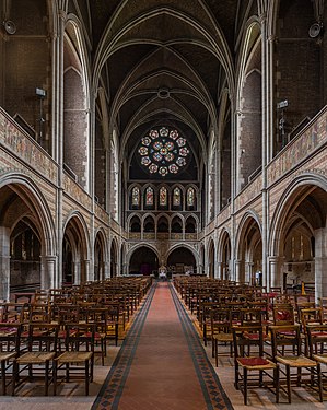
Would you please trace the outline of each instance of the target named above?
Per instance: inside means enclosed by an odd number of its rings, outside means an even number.
[[[152,129],[138,147],[141,165],[150,174],[166,176],[177,174],[187,165],[190,149],[187,140],[175,129],[161,127]]]

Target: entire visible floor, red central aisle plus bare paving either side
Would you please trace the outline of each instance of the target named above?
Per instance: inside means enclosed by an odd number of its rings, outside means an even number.
[[[154,282],[144,296],[125,341],[109,345],[105,366],[96,361],[90,396],[80,386],[69,386],[60,396],[43,396],[43,386],[25,387],[16,397],[1,396],[0,409],[322,409],[317,395],[292,388],[292,405],[280,403],[266,389],[249,390],[248,406],[234,388],[233,359],[229,348],[211,358],[211,342],[202,342],[197,318],[172,282]]]

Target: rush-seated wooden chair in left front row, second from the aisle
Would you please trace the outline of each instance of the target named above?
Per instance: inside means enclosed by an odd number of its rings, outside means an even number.
[[[45,396],[48,396],[49,385],[54,382],[54,359],[57,354],[58,324],[32,323],[28,325],[28,351],[13,362],[13,387],[40,376],[44,380]],[[52,364],[52,365],[51,365]],[[24,371],[28,371],[27,377],[22,377]]]

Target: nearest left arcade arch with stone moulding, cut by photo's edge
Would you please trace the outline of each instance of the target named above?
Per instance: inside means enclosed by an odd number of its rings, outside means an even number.
[[[54,222],[42,192],[26,176],[10,174],[0,183],[0,298],[9,300],[10,288],[54,286]]]

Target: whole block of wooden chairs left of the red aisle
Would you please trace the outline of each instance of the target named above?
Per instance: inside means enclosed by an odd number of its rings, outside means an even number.
[[[19,386],[40,376],[45,395],[50,385],[56,395],[58,385],[71,379],[82,382],[89,395],[95,354],[101,354],[104,365],[107,341],[118,344],[119,327],[125,330],[150,285],[147,279],[104,281],[100,293],[101,283],[90,282],[1,303],[2,394],[12,384],[15,395]],[[132,302],[122,303],[127,293],[133,294]]]

